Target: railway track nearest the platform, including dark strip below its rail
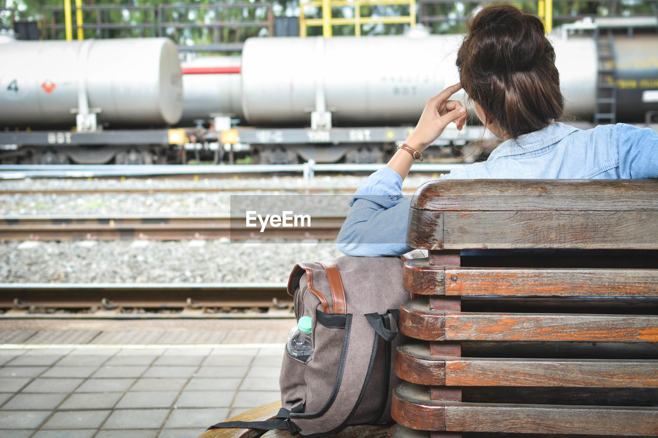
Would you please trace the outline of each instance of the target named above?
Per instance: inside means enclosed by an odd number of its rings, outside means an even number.
[[[0,317],[157,318],[265,313],[290,316],[284,283],[53,284],[0,283]],[[259,311],[255,310],[259,309]],[[154,316],[155,315],[155,316]]]

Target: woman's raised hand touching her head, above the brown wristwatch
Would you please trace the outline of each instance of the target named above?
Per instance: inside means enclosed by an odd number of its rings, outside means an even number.
[[[460,89],[461,84],[451,85],[438,95],[428,99],[416,128],[405,141],[407,145],[418,151],[424,151],[443,133],[450,122],[455,122],[457,129],[461,131],[466,124],[466,109],[461,102],[448,100]]]

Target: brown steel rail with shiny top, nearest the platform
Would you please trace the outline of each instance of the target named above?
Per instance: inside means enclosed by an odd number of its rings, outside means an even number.
[[[120,310],[288,307],[284,283],[0,283],[0,308]]]

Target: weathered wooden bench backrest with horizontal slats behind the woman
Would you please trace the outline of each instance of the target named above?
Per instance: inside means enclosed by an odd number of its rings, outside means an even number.
[[[427,183],[407,243],[390,436],[658,435],[658,180]]]

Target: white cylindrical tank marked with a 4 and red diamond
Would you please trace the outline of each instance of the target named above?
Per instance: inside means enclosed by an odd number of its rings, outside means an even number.
[[[0,44],[0,120],[75,126],[86,92],[100,123],[176,124],[183,110],[176,45],[167,38],[14,41]]]

